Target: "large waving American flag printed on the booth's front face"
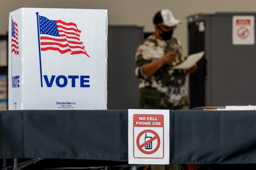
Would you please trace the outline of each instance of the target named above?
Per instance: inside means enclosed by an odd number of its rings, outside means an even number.
[[[73,22],[49,20],[39,15],[39,32],[41,51],[55,50],[61,54],[85,54],[83,42],[80,40],[81,31]]]

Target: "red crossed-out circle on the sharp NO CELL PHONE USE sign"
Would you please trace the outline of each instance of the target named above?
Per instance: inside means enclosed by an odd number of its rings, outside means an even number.
[[[155,136],[154,136],[153,138],[151,138],[150,140],[146,141],[145,143],[143,143],[142,145],[140,145],[140,138],[141,138],[141,136],[142,136],[144,133],[153,133]],[[142,149],[144,146],[146,146],[148,143],[152,142],[153,140],[157,140],[157,145],[156,145],[156,148],[155,148],[154,150],[152,150],[152,151],[145,151],[145,150]],[[159,137],[159,135],[158,135],[155,131],[149,130],[149,129],[148,129],[148,130],[144,130],[144,131],[142,131],[141,133],[139,133],[136,142],[137,142],[137,147],[138,147],[139,150],[140,150],[142,153],[144,153],[144,154],[153,154],[153,153],[155,153],[155,152],[159,149],[159,147],[160,147],[160,137]]]

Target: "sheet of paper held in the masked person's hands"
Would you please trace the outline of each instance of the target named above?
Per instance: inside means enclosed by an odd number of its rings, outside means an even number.
[[[184,62],[174,66],[172,69],[188,69],[196,64],[204,55],[204,51],[189,55]]]

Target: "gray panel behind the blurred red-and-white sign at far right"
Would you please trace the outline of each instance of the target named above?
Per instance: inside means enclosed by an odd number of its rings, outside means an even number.
[[[256,105],[256,45],[232,45],[232,15],[211,16],[210,29],[210,105]]]

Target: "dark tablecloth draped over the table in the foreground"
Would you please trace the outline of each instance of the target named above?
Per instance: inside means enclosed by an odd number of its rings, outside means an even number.
[[[256,111],[170,110],[170,163],[256,164]],[[128,110],[1,111],[0,159],[127,164]]]

